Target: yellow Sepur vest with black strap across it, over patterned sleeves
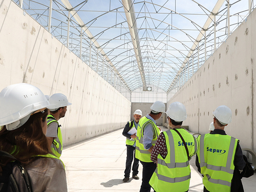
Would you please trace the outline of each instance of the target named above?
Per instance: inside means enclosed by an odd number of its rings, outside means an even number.
[[[197,153],[197,139],[184,129],[177,129],[187,144],[189,156]],[[188,190],[190,167],[186,148],[180,136],[174,130],[163,132],[167,147],[165,159],[159,154],[157,168],[153,173],[150,185],[156,191],[184,192]]]

